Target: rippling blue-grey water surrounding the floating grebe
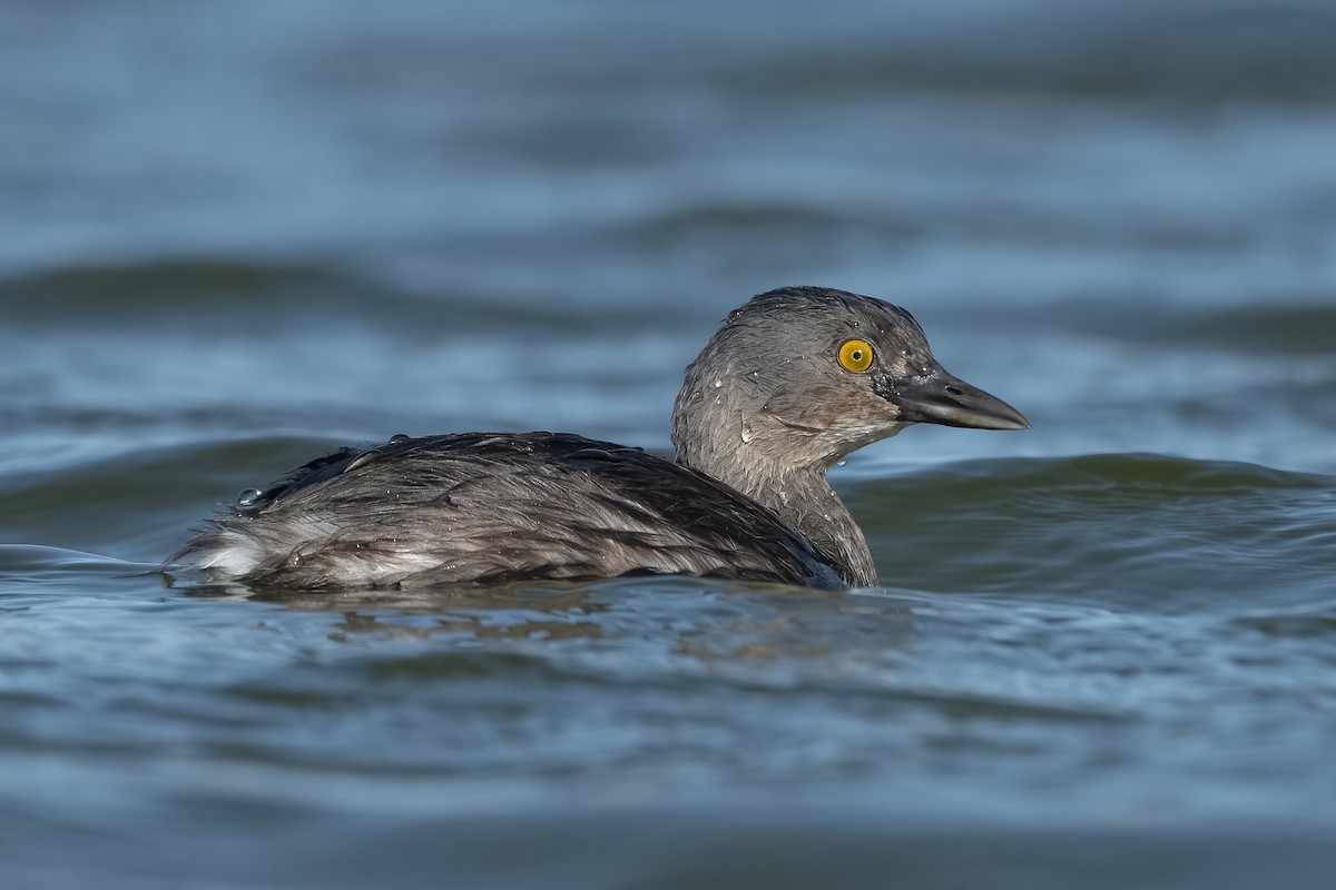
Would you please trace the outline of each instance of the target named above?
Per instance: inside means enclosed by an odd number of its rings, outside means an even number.
[[[0,878],[1325,886],[1336,17],[0,4]],[[835,470],[884,588],[168,587],[346,443],[665,448],[748,295],[1026,434]]]

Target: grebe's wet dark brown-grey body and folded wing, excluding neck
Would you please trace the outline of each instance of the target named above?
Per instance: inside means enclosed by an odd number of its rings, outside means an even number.
[[[174,560],[299,588],[643,574],[840,586],[810,542],[732,488],[545,432],[335,452],[214,520]]]

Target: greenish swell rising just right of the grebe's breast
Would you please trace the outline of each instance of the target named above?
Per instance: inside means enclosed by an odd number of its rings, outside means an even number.
[[[882,582],[1237,610],[1327,588],[1336,479],[1164,455],[973,460],[847,492]]]

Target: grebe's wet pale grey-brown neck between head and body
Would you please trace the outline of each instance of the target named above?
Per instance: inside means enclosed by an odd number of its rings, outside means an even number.
[[[747,430],[744,424],[744,430]],[[848,507],[826,482],[820,462],[794,460],[780,438],[743,432],[731,440],[719,427],[705,435],[677,426],[677,463],[704,472],[768,508],[786,526],[810,540],[840,578],[854,587],[876,584],[876,567],[863,531]]]

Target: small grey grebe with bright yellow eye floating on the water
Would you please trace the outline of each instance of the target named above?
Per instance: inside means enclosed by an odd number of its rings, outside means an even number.
[[[168,559],[302,590],[684,574],[876,583],[826,482],[912,423],[1025,430],[947,374],[907,311],[819,287],[735,310],[687,368],[676,460],[576,435],[394,436],[343,448],[238,504]]]

